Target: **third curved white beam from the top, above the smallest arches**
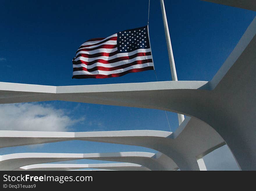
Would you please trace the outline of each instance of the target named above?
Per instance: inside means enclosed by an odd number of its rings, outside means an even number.
[[[15,153],[0,156],[0,170],[19,170],[20,167],[27,165],[79,159],[135,163],[150,170],[173,170],[177,168],[177,165],[173,164],[170,158],[160,153]]]

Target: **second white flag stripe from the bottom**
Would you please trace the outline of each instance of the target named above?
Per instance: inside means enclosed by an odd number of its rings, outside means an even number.
[[[87,69],[94,68],[95,66],[103,66],[106,68],[111,68],[111,67],[116,67],[124,64],[128,64],[137,60],[147,60],[147,59],[152,59],[152,56],[137,56],[136,58],[130,59],[130,60],[122,60],[110,64],[102,64],[99,62],[94,63],[93,65],[85,65],[85,64],[73,64],[73,68],[79,68],[79,67],[85,67]]]

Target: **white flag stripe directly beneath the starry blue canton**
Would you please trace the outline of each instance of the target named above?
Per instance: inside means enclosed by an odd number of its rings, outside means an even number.
[[[77,60],[83,60],[83,61],[86,61],[86,62],[91,62],[93,60],[97,60],[97,59],[102,59],[102,60],[112,60],[114,58],[119,58],[119,57],[123,57],[123,56],[132,56],[136,53],[141,53],[141,52],[151,52],[151,49],[137,49],[135,51],[132,51],[132,52],[127,52],[127,53],[117,53],[113,56],[99,56],[99,57],[95,57],[95,58],[85,58],[83,56],[79,56],[77,57],[74,61],[77,61]]]

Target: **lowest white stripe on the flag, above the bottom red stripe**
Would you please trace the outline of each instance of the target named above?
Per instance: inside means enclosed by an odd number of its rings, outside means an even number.
[[[127,67],[127,68],[118,69],[118,70],[113,70],[113,71],[102,71],[102,70],[96,70],[96,71],[93,71],[93,72],[74,71],[74,72],[73,72],[73,75],[86,75],[86,74],[103,74],[103,75],[109,75],[109,74],[117,74],[117,73],[125,72],[125,71],[130,70],[130,69],[144,68],[144,67],[147,67],[147,66],[154,66],[154,64],[153,64],[153,63],[137,64],[137,65],[129,66],[129,67]]]

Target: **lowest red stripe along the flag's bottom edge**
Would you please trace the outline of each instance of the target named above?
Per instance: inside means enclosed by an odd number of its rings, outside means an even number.
[[[123,76],[123,75],[131,73],[131,72],[142,72],[142,71],[146,71],[146,70],[154,70],[154,67],[147,66],[145,68],[134,68],[134,69],[127,70],[125,72],[121,72],[121,73],[117,73],[117,74],[109,74],[109,75],[103,75],[103,74],[74,75],[72,78],[77,78],[77,79],[81,79],[81,78],[111,78],[111,77]]]

